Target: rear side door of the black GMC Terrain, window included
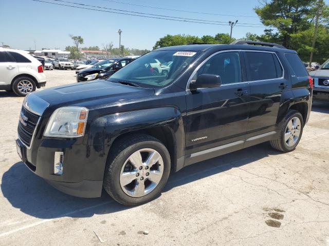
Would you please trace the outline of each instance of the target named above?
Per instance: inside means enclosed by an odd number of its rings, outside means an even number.
[[[274,52],[243,52],[250,85],[250,113],[245,147],[270,139],[276,134],[280,98],[291,88],[288,75]]]

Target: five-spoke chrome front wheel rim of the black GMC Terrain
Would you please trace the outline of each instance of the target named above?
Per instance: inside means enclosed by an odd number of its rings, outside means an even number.
[[[158,186],[162,174],[161,155],[154,149],[141,149],[124,162],[120,173],[120,186],[125,194],[142,197]]]

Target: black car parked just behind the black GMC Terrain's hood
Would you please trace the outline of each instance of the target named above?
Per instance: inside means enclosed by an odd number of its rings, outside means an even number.
[[[107,78],[121,68],[131,63],[133,58],[113,58],[102,60],[91,68],[84,69],[77,74],[77,82]]]

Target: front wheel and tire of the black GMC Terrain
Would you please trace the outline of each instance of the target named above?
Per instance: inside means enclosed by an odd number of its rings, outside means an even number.
[[[148,156],[150,157],[152,153],[144,151],[150,150],[154,151],[152,152],[155,154],[154,156],[160,156],[162,159],[159,159],[154,165],[148,168],[146,164],[147,158]],[[136,153],[141,154],[136,155]],[[132,165],[133,162],[130,162],[132,155],[141,156],[143,163],[135,161],[138,160],[138,158],[135,158],[134,162],[135,164],[137,163],[137,165],[134,167],[134,165]],[[140,166],[140,168],[142,167],[141,170],[138,168],[138,163],[142,163]],[[137,206],[156,198],[160,194],[167,183],[170,174],[170,166],[169,152],[158,139],[146,134],[135,134],[122,138],[116,143],[114,149],[111,149],[107,157],[103,187],[117,202],[125,206]],[[162,176],[155,175],[161,173],[161,168]],[[128,169],[128,171],[126,169]],[[124,177],[123,173],[130,175],[129,181],[125,180],[127,185],[122,183],[122,178]],[[153,183],[151,181],[153,179],[152,177],[158,180]],[[146,189],[138,189],[139,182],[144,185],[141,186],[141,188],[145,187]]]

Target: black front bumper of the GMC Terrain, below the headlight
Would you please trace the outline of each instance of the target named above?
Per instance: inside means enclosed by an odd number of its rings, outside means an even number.
[[[34,145],[37,145],[37,142],[28,149],[20,139],[16,139],[17,153],[30,171],[66,194],[87,198],[101,196],[103,174],[97,173],[100,171],[97,164],[94,166],[89,158],[79,154],[83,149],[85,151],[81,142],[77,143],[78,141],[72,139],[44,139],[38,150],[35,150]],[[55,152],[64,153],[62,175],[54,174]],[[102,166],[103,173],[105,165]],[[97,176],[98,178],[95,178]]]

